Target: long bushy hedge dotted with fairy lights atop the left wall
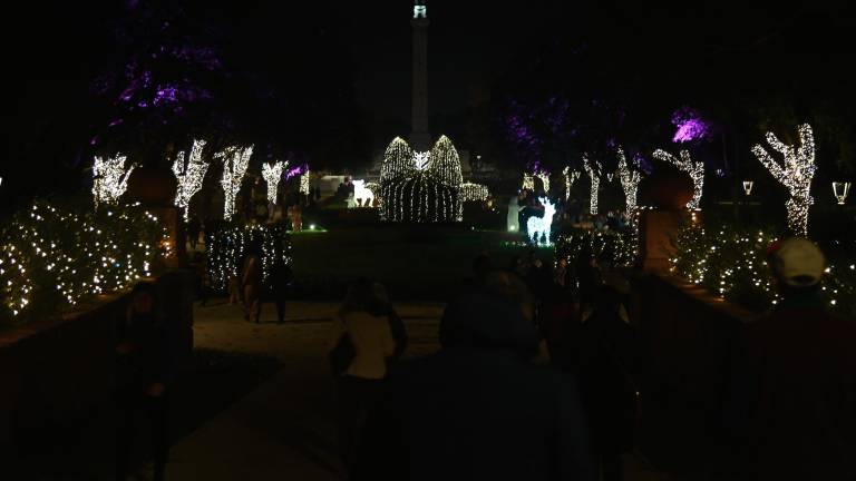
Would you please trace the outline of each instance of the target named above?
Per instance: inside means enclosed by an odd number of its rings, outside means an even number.
[[[166,228],[138,206],[36,202],[0,230],[0,323],[57,315],[150,276]]]

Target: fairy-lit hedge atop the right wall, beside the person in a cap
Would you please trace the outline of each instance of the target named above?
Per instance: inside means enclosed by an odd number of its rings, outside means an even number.
[[[751,310],[770,308],[779,301],[767,265],[767,248],[776,238],[770,229],[687,225],[673,242],[671,269],[727,301]],[[830,259],[821,288],[830,310],[850,317],[856,314],[853,259]]]

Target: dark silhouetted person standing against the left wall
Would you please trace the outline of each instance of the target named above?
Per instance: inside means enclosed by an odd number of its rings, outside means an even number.
[[[125,480],[129,474],[140,418],[152,425],[153,479],[164,479],[169,450],[166,395],[172,361],[167,330],[156,308],[154,286],[139,283],[134,287],[130,305],[118,326],[117,480]]]

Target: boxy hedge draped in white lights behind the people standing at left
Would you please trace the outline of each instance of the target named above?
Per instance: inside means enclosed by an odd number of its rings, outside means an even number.
[[[291,238],[285,224],[239,225],[223,223],[206,233],[211,286],[228,291],[230,278],[240,275],[243,257],[254,246],[262,253],[262,275],[266,283],[278,259],[291,265]]]

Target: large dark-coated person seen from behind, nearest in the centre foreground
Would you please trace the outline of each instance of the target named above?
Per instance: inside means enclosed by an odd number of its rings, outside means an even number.
[[[529,362],[533,314],[508,273],[450,304],[441,351],[390,377],[354,479],[593,480],[574,377]]]

